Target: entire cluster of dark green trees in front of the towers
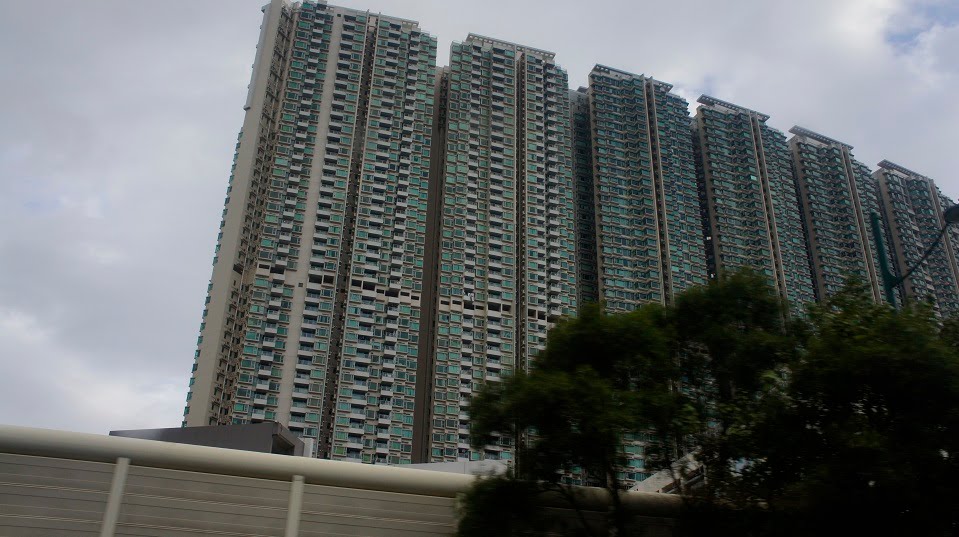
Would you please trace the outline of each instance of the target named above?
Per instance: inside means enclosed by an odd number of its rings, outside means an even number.
[[[464,497],[459,535],[598,534],[569,475],[609,491],[603,531],[635,531],[618,475],[639,432],[658,438],[647,467],[703,464],[680,487],[690,535],[959,534],[959,321],[855,284],[790,319],[765,282],[744,272],[668,307],[559,322],[530,371],[472,402],[476,446],[519,448],[514,474]],[[578,518],[550,522],[544,493]]]

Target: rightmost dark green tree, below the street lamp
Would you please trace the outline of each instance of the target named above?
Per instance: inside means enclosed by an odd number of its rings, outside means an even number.
[[[690,535],[956,534],[959,331],[862,289],[811,305],[781,380],[723,416]]]

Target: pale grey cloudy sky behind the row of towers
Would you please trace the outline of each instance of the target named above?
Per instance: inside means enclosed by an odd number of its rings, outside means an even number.
[[[0,3],[0,423],[180,423],[265,0]],[[671,82],[959,195],[950,0],[341,0]],[[723,6],[719,8],[717,6]]]

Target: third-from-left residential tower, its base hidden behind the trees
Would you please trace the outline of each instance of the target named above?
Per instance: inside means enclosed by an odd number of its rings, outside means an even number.
[[[604,65],[589,75],[593,157],[582,177],[595,193],[598,294],[608,311],[666,303],[706,283],[689,114],[671,89]]]

